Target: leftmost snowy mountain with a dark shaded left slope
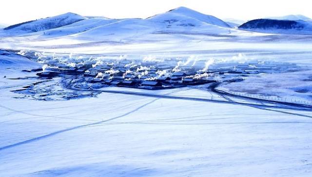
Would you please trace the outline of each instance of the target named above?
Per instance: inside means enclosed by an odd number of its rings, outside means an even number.
[[[88,18],[80,16],[78,14],[74,14],[74,13],[66,13],[66,14],[55,16],[55,17],[48,17],[45,19],[39,19],[35,21],[14,24],[14,25],[5,27],[4,31],[7,34],[18,35],[18,34],[53,29],[53,28],[57,28],[60,26],[72,24],[74,22],[82,21],[85,19],[88,19]]]

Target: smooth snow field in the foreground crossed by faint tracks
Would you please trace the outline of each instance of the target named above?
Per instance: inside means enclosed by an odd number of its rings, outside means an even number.
[[[236,98],[252,104],[240,105],[195,88],[135,89],[176,99],[105,92],[68,101],[12,98],[18,94],[10,90],[25,82],[34,81],[0,79],[1,176],[312,174],[311,111]],[[208,101],[180,98],[198,95]]]

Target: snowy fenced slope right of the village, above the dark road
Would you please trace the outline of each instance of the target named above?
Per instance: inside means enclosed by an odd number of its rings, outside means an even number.
[[[289,102],[312,99],[311,70],[292,73],[263,74],[244,78],[240,83],[223,85],[230,91],[251,95],[276,96]],[[272,99],[272,98],[271,98]]]

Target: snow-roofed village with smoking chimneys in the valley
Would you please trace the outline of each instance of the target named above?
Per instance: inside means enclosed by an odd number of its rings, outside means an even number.
[[[202,64],[204,65],[204,64]],[[104,64],[67,66],[62,63],[46,66],[39,71],[40,78],[66,77],[72,88],[97,89],[102,87],[127,87],[141,89],[169,89],[203,85],[214,82],[239,82],[249,75],[277,73],[297,70],[298,66],[289,63],[247,63],[229,65],[219,63],[206,69],[190,66],[139,63],[121,60],[107,61]],[[68,80],[68,79],[67,79]]]

